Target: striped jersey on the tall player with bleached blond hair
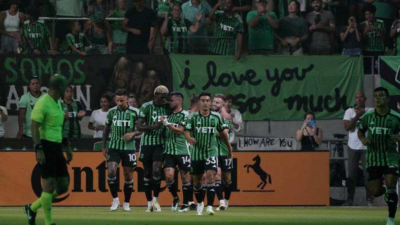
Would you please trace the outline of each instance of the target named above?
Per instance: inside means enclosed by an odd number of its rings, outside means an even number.
[[[170,115],[170,105],[157,106],[154,101],[146,102],[140,107],[139,118],[145,119],[146,126],[152,126],[159,122],[160,116]],[[165,139],[165,127],[145,131],[142,135],[141,145],[163,144]]]

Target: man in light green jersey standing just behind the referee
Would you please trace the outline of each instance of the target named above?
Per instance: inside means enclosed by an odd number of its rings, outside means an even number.
[[[17,138],[21,137],[32,137],[30,132],[30,115],[36,102],[41,98],[45,93],[40,90],[41,85],[38,77],[31,77],[29,79],[29,92],[22,95],[19,100],[18,107],[18,133]]]

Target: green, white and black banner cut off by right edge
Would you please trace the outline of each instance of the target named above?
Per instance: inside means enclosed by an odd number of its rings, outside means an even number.
[[[390,108],[400,110],[400,57],[381,56],[379,74],[381,86],[389,91]]]

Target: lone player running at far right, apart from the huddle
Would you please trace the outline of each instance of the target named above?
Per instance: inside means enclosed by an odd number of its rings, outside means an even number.
[[[386,224],[394,225],[398,202],[399,154],[396,142],[400,141],[400,114],[389,108],[389,92],[383,87],[374,90],[374,102],[375,110],[361,117],[357,134],[366,145],[368,189],[375,197],[384,195],[389,211]]]

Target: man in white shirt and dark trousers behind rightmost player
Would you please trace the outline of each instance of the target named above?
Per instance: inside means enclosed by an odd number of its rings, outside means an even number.
[[[358,123],[359,119],[364,115],[366,111],[374,110],[374,108],[365,106],[365,94],[362,92],[357,92],[354,96],[355,106],[350,107],[346,110],[345,116],[343,118],[343,124],[346,131],[349,131],[349,140],[348,140],[348,164],[349,164],[349,177],[347,182],[347,202],[344,203],[344,206],[356,206],[354,203],[354,193],[356,187],[356,178],[357,178],[357,170],[358,170],[358,162],[361,160],[362,163],[362,172],[364,173],[364,178],[366,181],[366,170],[365,170],[365,151],[366,146],[364,146],[361,141],[358,139],[357,131],[358,131]],[[368,190],[365,189],[366,200],[369,206],[374,205],[374,197],[369,194]]]

